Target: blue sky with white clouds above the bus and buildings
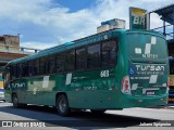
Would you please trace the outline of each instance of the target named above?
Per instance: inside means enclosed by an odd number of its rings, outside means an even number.
[[[153,11],[173,0],[0,0],[0,36],[20,34],[21,47],[47,49],[97,32],[101,22],[121,18],[128,9]],[[151,28],[162,26],[151,15]]]

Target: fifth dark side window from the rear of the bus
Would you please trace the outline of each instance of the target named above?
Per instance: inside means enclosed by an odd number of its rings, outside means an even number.
[[[64,53],[58,53],[55,58],[57,58],[55,73],[63,73],[64,72]]]

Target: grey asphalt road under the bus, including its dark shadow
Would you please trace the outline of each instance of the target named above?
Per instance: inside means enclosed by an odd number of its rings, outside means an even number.
[[[44,106],[28,105],[14,108],[11,103],[0,102],[0,126],[11,122],[13,128],[3,129],[173,129],[174,108],[126,108],[123,110],[107,110],[103,115],[94,115],[89,110],[74,112],[70,117],[60,117],[57,109]],[[173,120],[173,121],[172,121]],[[18,127],[20,126],[20,127]],[[38,127],[39,126],[39,127]],[[145,127],[146,126],[146,127]],[[150,127],[149,127],[150,126]],[[29,128],[24,128],[29,127]],[[33,128],[30,128],[33,127]],[[37,127],[37,128],[36,128]]]

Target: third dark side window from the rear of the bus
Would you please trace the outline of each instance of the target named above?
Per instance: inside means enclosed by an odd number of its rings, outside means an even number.
[[[76,70],[84,70],[87,68],[87,52],[86,48],[76,49]]]

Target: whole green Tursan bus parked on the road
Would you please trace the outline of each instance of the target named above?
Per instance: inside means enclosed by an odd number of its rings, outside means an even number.
[[[107,109],[165,105],[169,58],[165,38],[150,30],[113,29],[11,61],[7,102],[15,107]]]

